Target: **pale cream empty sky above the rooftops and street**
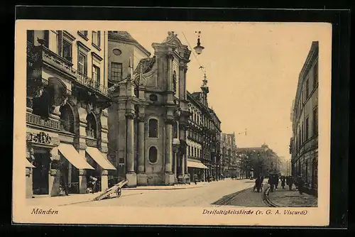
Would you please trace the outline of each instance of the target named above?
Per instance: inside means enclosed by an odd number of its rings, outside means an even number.
[[[161,43],[168,31],[190,50],[197,43],[195,31],[201,31],[204,50],[195,54],[197,59],[191,53],[187,90],[200,91],[202,65],[208,103],[222,121],[222,132],[235,132],[240,148],[266,143],[289,158],[298,75],[312,41],[321,43],[324,29],[329,30],[317,23],[179,23],[168,28],[151,23],[131,27],[129,33],[153,55],[151,44]]]

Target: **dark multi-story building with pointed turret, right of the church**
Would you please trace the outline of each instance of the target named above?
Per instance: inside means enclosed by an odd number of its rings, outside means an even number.
[[[207,77],[202,80],[201,92],[187,92],[189,101],[189,128],[187,130],[187,166],[190,176],[199,180],[219,180],[221,177],[220,136],[221,121],[209,108]]]

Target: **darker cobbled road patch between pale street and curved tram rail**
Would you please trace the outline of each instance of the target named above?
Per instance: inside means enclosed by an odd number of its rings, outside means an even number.
[[[267,184],[263,185],[264,188]],[[253,192],[253,187],[222,197],[214,204],[243,207],[267,207],[263,202],[263,192]]]

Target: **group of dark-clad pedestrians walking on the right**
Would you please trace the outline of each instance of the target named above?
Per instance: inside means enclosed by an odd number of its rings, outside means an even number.
[[[263,190],[263,175],[259,175],[255,180],[255,186],[253,187],[253,191],[257,189],[257,192]],[[270,175],[268,179],[268,184],[270,184],[270,191],[273,192],[274,189],[278,189],[279,181],[281,181],[281,187],[285,189],[285,185],[288,185],[289,190],[293,189],[293,184],[295,184],[296,189],[300,194],[303,194],[305,182],[303,181],[301,176],[293,177],[292,175],[285,176],[285,175]]]

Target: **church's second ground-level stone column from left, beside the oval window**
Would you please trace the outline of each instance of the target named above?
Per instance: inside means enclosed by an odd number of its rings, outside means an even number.
[[[139,116],[138,118],[138,175],[137,182],[138,185],[147,185],[147,175],[145,169],[145,159],[146,159],[146,139],[145,139],[145,121],[144,116]]]

